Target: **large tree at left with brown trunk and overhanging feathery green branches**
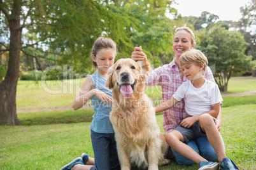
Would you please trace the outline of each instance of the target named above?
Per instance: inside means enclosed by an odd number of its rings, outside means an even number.
[[[5,53],[8,55],[8,69],[4,81],[0,84],[0,124],[20,124],[16,111],[20,53],[22,51],[26,55],[36,57],[32,53],[27,53],[25,48],[36,46],[36,50],[47,53],[48,51],[40,48],[46,44],[48,49],[54,49],[55,52],[57,51],[55,54],[61,57],[56,60],[68,63],[71,61],[70,56],[79,56],[77,58],[87,56],[89,48],[84,46],[91,48],[94,39],[108,29],[113,32],[116,30],[115,34],[122,37],[117,41],[124,42],[127,37],[120,34],[122,30],[113,28],[115,25],[103,22],[111,18],[110,22],[115,20],[124,23],[124,18],[119,19],[95,1],[54,1],[53,3],[42,0],[0,0],[0,11],[0,37],[4,37],[0,42],[0,53],[8,51]],[[36,39],[29,41],[22,30],[27,31],[31,36],[36,35]],[[69,56],[69,60],[66,56]],[[85,63],[85,68],[86,65],[89,64]]]

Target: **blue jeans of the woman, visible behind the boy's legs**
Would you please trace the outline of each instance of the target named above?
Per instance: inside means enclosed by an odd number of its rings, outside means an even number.
[[[224,141],[223,141],[223,138],[221,135],[220,135],[220,138],[222,140],[222,144],[223,144],[223,147],[225,150]],[[213,149],[213,147],[211,147],[211,144],[208,141],[206,136],[197,138],[196,140],[189,141],[188,146],[193,148],[197,152],[197,154],[204,157],[204,159],[211,161],[211,162],[218,162],[217,154],[216,154],[215,150]],[[193,162],[190,159],[187,159],[186,157],[183,157],[183,155],[176,152],[173,148],[171,148],[171,150],[172,150],[175,160],[178,164],[187,165],[187,166],[195,164],[195,162]]]

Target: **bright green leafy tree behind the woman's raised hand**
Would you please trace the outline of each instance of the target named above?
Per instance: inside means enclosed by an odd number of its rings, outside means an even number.
[[[172,1],[155,1],[151,4],[140,1],[141,5],[131,5],[127,11],[139,20],[138,29],[132,34],[134,46],[142,46],[153,67],[169,63],[171,53],[173,21],[167,18],[166,11],[175,14],[171,8]]]

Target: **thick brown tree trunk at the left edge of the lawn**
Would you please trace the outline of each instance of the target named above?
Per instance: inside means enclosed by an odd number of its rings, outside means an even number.
[[[16,91],[22,32],[22,29],[20,29],[21,3],[21,0],[13,1],[13,10],[8,21],[10,27],[10,51],[8,70],[4,81],[0,84],[0,124],[20,124],[16,110]]]

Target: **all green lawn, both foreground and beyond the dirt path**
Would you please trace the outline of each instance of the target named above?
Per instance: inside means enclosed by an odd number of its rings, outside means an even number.
[[[42,86],[40,81],[18,81],[17,108],[71,106],[82,82],[47,81]],[[232,77],[227,93],[254,91],[255,87],[255,77]],[[159,87],[148,87],[146,93],[152,100],[162,99]],[[224,97],[221,133],[227,156],[241,169],[256,169],[255,102],[256,96]],[[0,126],[0,169],[60,169],[82,152],[94,157],[89,129],[93,114],[92,109],[19,113],[25,126]],[[162,114],[157,115],[157,122],[164,133]],[[198,166],[179,166],[171,160],[159,169]]]

